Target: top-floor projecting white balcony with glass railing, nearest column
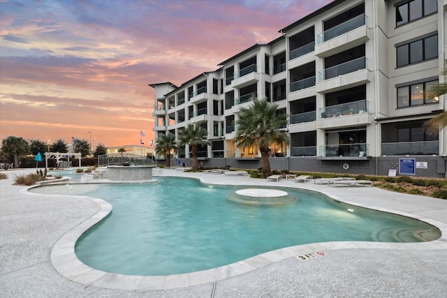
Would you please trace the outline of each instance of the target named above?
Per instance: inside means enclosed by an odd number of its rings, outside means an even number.
[[[318,34],[315,55],[329,57],[332,54],[362,45],[366,40],[369,40],[367,16],[362,14]]]

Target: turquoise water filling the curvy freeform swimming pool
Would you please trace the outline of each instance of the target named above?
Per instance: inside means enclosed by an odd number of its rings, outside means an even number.
[[[156,276],[210,269],[321,241],[414,242],[440,237],[439,230],[426,223],[310,191],[280,188],[298,200],[258,206],[226,198],[253,186],[157,179],[159,183],[152,184],[101,184],[83,193],[106,200],[113,209],[78,240],[75,253],[82,262],[113,273]]]

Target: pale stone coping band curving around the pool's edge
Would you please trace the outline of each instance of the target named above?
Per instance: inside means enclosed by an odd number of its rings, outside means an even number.
[[[164,175],[163,175],[164,176]],[[170,175],[173,177],[178,177]],[[192,179],[199,179],[205,184],[213,184],[210,181],[204,182],[201,177],[186,177]],[[128,182],[128,181],[126,181]],[[260,181],[261,182],[261,181]],[[98,182],[96,182],[98,183]],[[129,183],[129,182],[128,182]],[[98,184],[101,184],[98,183]],[[221,182],[219,183],[221,184]],[[222,184],[221,184],[222,185]],[[241,184],[242,186],[242,184]],[[262,186],[258,184],[258,186]],[[271,185],[269,185],[271,186]],[[287,187],[287,186],[273,186]],[[293,188],[300,188],[297,184]],[[26,191],[29,188],[26,189]],[[327,195],[332,200],[343,202],[356,207],[363,207],[367,209],[374,209],[376,211],[383,211],[390,214],[397,214],[400,216],[406,216],[434,225],[441,231],[441,237],[434,241],[428,242],[413,242],[413,243],[391,243],[391,242],[375,242],[375,241],[332,241],[332,242],[318,242],[314,244],[302,244],[298,246],[288,246],[286,248],[279,248],[274,251],[268,251],[255,255],[251,258],[241,260],[239,262],[232,263],[230,265],[224,265],[217,268],[206,269],[202,271],[195,271],[186,274],[173,274],[168,276],[133,276],[124,274],[114,274],[91,268],[82,263],[75,254],[75,244],[79,237],[82,236],[89,228],[93,227],[97,223],[103,220],[110,211],[112,211],[112,205],[98,198],[92,198],[82,195],[75,195],[78,198],[87,198],[95,204],[98,204],[99,210],[83,221],[75,228],[68,231],[61,238],[59,238],[50,253],[50,261],[54,269],[62,276],[68,278],[71,281],[82,283],[85,285],[91,285],[99,288],[108,288],[113,290],[171,290],[175,288],[185,288],[193,285],[202,285],[206,283],[214,283],[227,278],[233,278],[240,276],[248,272],[254,271],[270,265],[274,262],[286,260],[288,258],[297,258],[300,255],[306,255],[309,253],[316,253],[319,251],[330,251],[337,249],[356,249],[356,248],[375,248],[375,249],[393,249],[393,250],[441,250],[447,249],[447,223],[420,216],[418,214],[412,214],[409,212],[398,211],[393,209],[379,208],[367,206],[365,204],[359,204],[357,202],[351,202],[349,200],[343,200],[338,195],[333,195],[325,191],[310,190]],[[33,194],[29,193],[28,194]],[[73,197],[73,195],[70,195]]]

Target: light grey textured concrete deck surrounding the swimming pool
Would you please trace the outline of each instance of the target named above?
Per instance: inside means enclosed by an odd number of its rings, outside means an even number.
[[[161,176],[196,177],[208,184],[300,187],[358,206],[419,218],[437,226],[441,238],[425,243],[326,242],[284,248],[230,266],[216,276],[159,277],[164,290],[112,290],[77,283],[59,274],[51,252],[67,233],[98,216],[100,204],[83,196],[40,195],[0,180],[1,297],[445,297],[447,291],[447,200],[404,195],[379,188],[337,187],[245,176],[163,170]],[[154,177],[156,179],[156,177]],[[101,210],[103,212],[104,210]],[[75,239],[71,239],[75,241]],[[323,256],[316,254],[324,253]],[[300,258],[301,257],[301,258]],[[250,259],[249,259],[250,260]],[[236,263],[237,264],[237,263]],[[75,267],[72,267],[75,268]],[[217,273],[215,271],[214,273]],[[82,271],[72,272],[83,276]],[[217,277],[221,277],[217,276]],[[185,277],[185,276],[184,276]],[[196,276],[198,277],[198,276]],[[124,279],[124,281],[123,281]],[[142,288],[154,286],[144,278]],[[198,285],[191,285],[191,284]],[[180,287],[180,288],[178,288]],[[172,289],[170,289],[172,288]]]

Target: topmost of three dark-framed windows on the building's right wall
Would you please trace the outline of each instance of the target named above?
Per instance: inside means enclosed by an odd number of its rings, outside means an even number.
[[[437,0],[413,0],[396,7],[396,27],[437,13]]]

